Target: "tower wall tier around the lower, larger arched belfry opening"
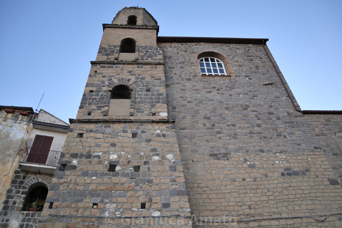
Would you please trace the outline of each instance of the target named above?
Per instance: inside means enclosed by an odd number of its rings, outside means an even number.
[[[118,119],[119,117],[106,116],[110,90],[118,84],[130,86],[135,94],[132,100],[134,113],[130,119],[167,119],[163,63],[133,62],[118,62],[113,65],[93,63],[77,118]]]

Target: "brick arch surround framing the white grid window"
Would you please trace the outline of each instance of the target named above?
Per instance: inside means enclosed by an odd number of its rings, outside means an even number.
[[[235,78],[235,74],[234,71],[232,69],[232,65],[229,63],[228,59],[226,58],[225,54],[223,54],[222,52],[218,51],[218,50],[214,50],[214,49],[206,49],[206,50],[202,50],[200,52],[198,52],[196,54],[196,57],[194,58],[195,63],[196,63],[196,67],[197,67],[197,71],[198,71],[198,76],[201,77],[201,72],[199,70],[199,64],[198,64],[198,59],[202,58],[202,57],[214,57],[214,58],[218,58],[223,62],[224,68],[226,70],[227,76],[231,76],[232,78]],[[218,77],[218,76],[208,76],[208,77]],[[222,77],[222,76],[220,76]]]

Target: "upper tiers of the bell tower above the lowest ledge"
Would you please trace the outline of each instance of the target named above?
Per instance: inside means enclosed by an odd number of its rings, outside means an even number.
[[[157,21],[145,9],[130,7],[103,30],[77,118],[167,120]]]

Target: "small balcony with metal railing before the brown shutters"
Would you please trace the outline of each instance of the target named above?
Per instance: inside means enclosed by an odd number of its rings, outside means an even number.
[[[26,148],[23,158],[19,162],[20,170],[54,174],[61,153],[60,151]]]

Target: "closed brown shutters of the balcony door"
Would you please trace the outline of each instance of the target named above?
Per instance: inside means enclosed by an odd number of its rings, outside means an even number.
[[[53,137],[36,135],[26,162],[45,164],[49,156]]]

